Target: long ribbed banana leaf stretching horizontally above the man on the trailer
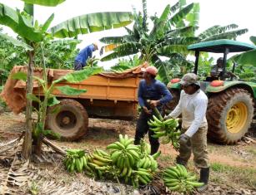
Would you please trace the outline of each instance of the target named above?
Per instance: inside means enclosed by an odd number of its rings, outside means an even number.
[[[76,37],[78,34],[98,32],[127,26],[133,22],[131,12],[97,12],[73,17],[49,29],[54,37]]]

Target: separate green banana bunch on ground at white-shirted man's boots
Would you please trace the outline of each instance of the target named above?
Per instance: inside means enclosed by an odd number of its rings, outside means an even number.
[[[202,186],[203,183],[198,183],[196,179],[195,175],[188,173],[187,169],[180,164],[167,168],[163,172],[164,185],[178,193],[192,193],[194,188]]]

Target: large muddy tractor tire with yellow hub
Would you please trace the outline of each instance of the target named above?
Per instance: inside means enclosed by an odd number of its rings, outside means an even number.
[[[231,88],[208,100],[208,138],[219,144],[237,144],[253,120],[253,98],[247,90]]]

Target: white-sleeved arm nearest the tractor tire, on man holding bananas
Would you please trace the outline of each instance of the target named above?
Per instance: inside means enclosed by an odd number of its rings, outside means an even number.
[[[189,138],[191,138],[193,136],[193,134],[195,134],[198,131],[198,129],[203,121],[203,118],[206,114],[207,105],[208,105],[208,100],[201,99],[201,100],[197,100],[195,102],[193,123],[190,125],[188,130],[185,132],[185,134],[187,134]]]

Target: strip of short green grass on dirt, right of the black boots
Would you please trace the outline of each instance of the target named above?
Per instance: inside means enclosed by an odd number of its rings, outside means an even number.
[[[211,169],[215,173],[225,174],[225,176],[230,178],[234,184],[241,183],[247,185],[250,188],[256,188],[255,168],[233,167],[221,163],[211,163]],[[216,182],[220,182],[219,178],[214,178],[214,180],[217,179]]]

